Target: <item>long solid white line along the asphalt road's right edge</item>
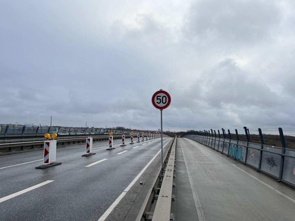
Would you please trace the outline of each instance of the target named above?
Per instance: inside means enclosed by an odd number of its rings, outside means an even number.
[[[167,142],[167,144],[169,143],[169,141]],[[167,144],[165,144],[163,146],[163,148]],[[114,208],[117,206],[117,204],[121,201],[121,199],[128,192],[128,190],[133,186],[133,184],[135,184],[135,182],[137,181],[137,179],[139,179],[139,177],[144,173],[144,171],[148,168],[148,166],[153,162],[153,160],[158,156],[158,154],[160,152],[161,152],[161,150],[159,150],[158,153],[150,160],[150,162],[148,162],[148,164],[142,169],[142,171],[140,171],[140,173],[134,178],[134,180],[128,185],[128,187],[120,194],[120,196],[115,200],[115,202],[113,202],[113,204],[109,207],[109,209],[107,209],[106,212],[104,212],[104,214],[99,218],[98,221],[104,221],[106,219],[106,217],[108,217],[108,215],[114,210]]]

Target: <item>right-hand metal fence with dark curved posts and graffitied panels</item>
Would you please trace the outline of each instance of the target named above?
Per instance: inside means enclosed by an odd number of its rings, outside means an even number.
[[[235,139],[228,130],[228,134],[222,128],[222,136],[216,131],[194,131],[185,133],[182,137],[192,139],[211,147],[243,164],[261,171],[278,182],[284,182],[295,188],[295,151],[286,147],[286,141],[282,128],[278,129],[281,147],[265,144],[263,133],[258,128],[260,142],[251,142],[248,128],[245,129],[246,140],[240,140],[240,134],[235,130]],[[228,135],[228,136],[227,136]]]

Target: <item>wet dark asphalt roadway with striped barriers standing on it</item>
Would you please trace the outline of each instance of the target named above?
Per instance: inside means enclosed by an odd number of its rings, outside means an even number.
[[[166,144],[170,139],[164,138]],[[106,146],[95,142],[93,148]],[[98,220],[124,191],[142,168],[160,150],[160,139],[120,147],[114,140],[112,151],[106,147],[94,149],[96,155],[82,157],[84,144],[57,149],[57,161],[62,165],[35,169],[42,161],[0,169],[0,198],[54,180],[42,187],[0,202],[1,220]],[[150,143],[149,143],[150,142]],[[145,145],[142,145],[145,144]],[[138,146],[137,148],[133,148]],[[119,154],[122,151],[126,151]],[[1,166],[42,158],[42,151],[1,156]],[[85,167],[102,159],[100,163]],[[15,209],[17,208],[17,210]]]

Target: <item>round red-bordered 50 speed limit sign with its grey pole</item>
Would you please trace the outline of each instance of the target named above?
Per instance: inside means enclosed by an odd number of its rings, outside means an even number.
[[[161,174],[163,175],[163,118],[162,118],[162,111],[163,109],[167,108],[171,103],[171,97],[165,90],[158,90],[152,96],[152,103],[155,108],[159,109],[161,112],[161,163],[162,169]]]

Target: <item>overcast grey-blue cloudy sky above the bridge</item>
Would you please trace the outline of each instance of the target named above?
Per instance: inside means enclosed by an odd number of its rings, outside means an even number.
[[[0,123],[295,130],[295,1],[0,0]]]

